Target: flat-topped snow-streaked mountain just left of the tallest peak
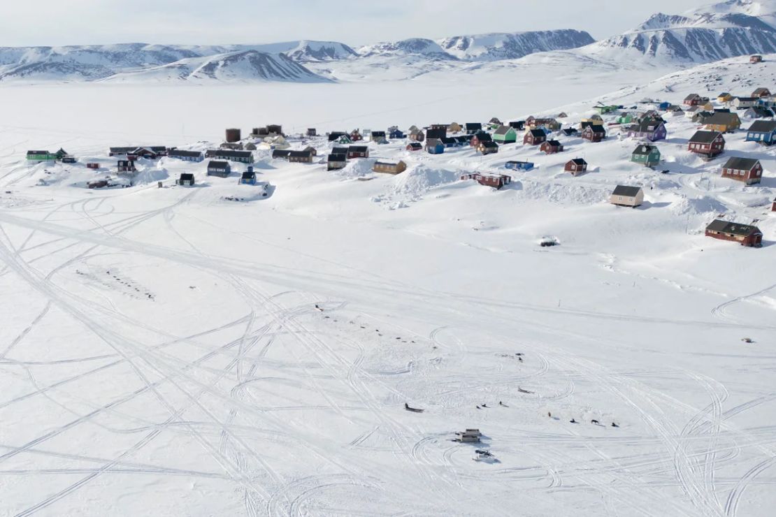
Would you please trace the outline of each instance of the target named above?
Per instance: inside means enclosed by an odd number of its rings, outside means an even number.
[[[594,41],[593,36],[584,31],[563,29],[454,36],[438,43],[452,56],[479,61],[518,59],[537,52],[583,47]]]

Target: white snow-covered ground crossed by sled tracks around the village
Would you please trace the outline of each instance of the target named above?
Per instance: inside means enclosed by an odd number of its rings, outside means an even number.
[[[748,93],[749,74],[771,87],[768,58],[611,95],[625,84],[518,77],[491,98],[460,81],[445,103],[452,87],[415,81],[348,102],[356,85],[4,88],[0,515],[771,515],[776,150],[743,133],[725,156],[760,158],[760,186],[688,155],[684,117],[658,144],[670,174],[630,164],[616,129],[561,136],[554,156],[370,143],[334,172],[258,151],[259,186],[165,158],[92,191],[106,171],[84,167],[111,164],[109,144],[205,149],[237,122],[563,110],[568,126],[599,99],[681,102],[709,74],[719,91]],[[79,164],[24,163],[60,146]],[[372,174],[377,157],[409,168]],[[591,171],[563,173],[573,157]],[[501,191],[458,179],[507,160],[538,167]],[[196,187],[174,185],[184,171]],[[645,205],[609,205],[616,184]],[[759,219],[766,245],[703,236],[721,214]],[[452,441],[467,428],[483,443]]]

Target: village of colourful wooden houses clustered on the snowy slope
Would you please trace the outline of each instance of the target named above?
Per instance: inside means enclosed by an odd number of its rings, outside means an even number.
[[[760,56],[750,57],[753,65],[761,62]],[[154,167],[159,160],[180,160],[189,164],[191,170],[174,178],[175,185],[193,187],[205,178],[210,181],[223,178],[259,188],[260,194],[252,195],[266,198],[271,192],[270,185],[261,181],[261,174],[255,167],[262,157],[280,169],[282,162],[288,162],[308,164],[330,172],[345,169],[355,160],[369,160],[373,173],[397,175],[417,162],[418,153],[428,155],[428,160],[442,160],[451,153],[468,150],[474,156],[489,157],[490,161],[474,171],[460,171],[460,181],[476,181],[484,187],[500,190],[510,187],[514,174],[546,174],[542,156],[561,154],[568,157],[561,163],[563,171],[573,178],[590,174],[591,166],[582,157],[585,147],[605,140],[619,140],[632,142],[632,152],[627,157],[632,164],[646,167],[654,174],[671,174],[670,164],[663,160],[661,151],[661,146],[670,142],[673,146],[683,146],[684,153],[698,157],[702,162],[713,160],[718,164],[715,167],[720,178],[757,188],[766,172],[757,158],[757,150],[776,143],[774,109],[776,95],[760,86],[753,91],[736,92],[736,95],[722,91],[715,98],[694,93],[683,99],[650,99],[631,106],[599,103],[590,106],[589,112],[578,121],[559,112],[553,117],[528,116],[508,122],[493,117],[487,122],[450,122],[410,126],[404,130],[391,126],[386,130],[318,133],[317,129],[310,128],[301,134],[286,134],[281,125],[273,124],[255,127],[247,136],[243,136],[241,129],[226,129],[222,143],[204,149],[111,146],[107,158],[95,157],[101,161],[90,158],[82,165],[64,149],[54,153],[29,150],[26,161],[29,164],[59,162],[70,167],[86,167],[94,171],[95,179],[84,186],[97,189],[131,187],[140,171]],[[695,127],[694,133],[681,143],[669,140],[672,126],[679,125]],[[752,152],[729,155],[726,143],[733,140],[743,141]],[[394,157],[382,157],[383,150],[393,150]],[[499,153],[506,150],[522,150],[531,153],[532,157],[530,160],[497,160]],[[404,156],[396,159],[397,152]],[[500,168],[506,171],[499,171]],[[105,174],[109,171],[114,174]],[[507,172],[509,174],[505,174]],[[45,180],[41,182],[45,184]],[[170,185],[165,181],[158,182],[158,187],[166,186]],[[644,185],[612,184],[608,201],[611,205],[635,209],[644,204],[645,195]],[[241,195],[228,198],[244,199]],[[776,199],[764,208],[776,212]],[[720,217],[708,223],[705,235],[742,246],[763,245],[763,233],[757,227],[757,221]]]

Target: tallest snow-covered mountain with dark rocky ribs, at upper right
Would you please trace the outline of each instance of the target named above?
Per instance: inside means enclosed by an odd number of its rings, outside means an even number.
[[[750,53],[776,52],[776,2],[730,0],[682,16],[658,13],[640,26],[583,51],[612,60],[705,63]]]

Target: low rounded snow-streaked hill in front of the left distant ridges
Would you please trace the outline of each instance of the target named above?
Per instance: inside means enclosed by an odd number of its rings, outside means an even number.
[[[162,81],[328,81],[282,53],[244,50],[189,57],[160,67],[114,74],[104,82]]]

